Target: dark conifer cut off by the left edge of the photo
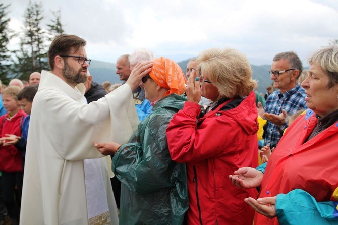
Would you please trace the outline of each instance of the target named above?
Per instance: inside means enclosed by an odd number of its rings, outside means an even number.
[[[4,83],[8,83],[7,75],[11,66],[11,54],[7,48],[8,42],[11,39],[11,30],[8,28],[10,19],[7,18],[7,8],[0,3],[0,79]]]

